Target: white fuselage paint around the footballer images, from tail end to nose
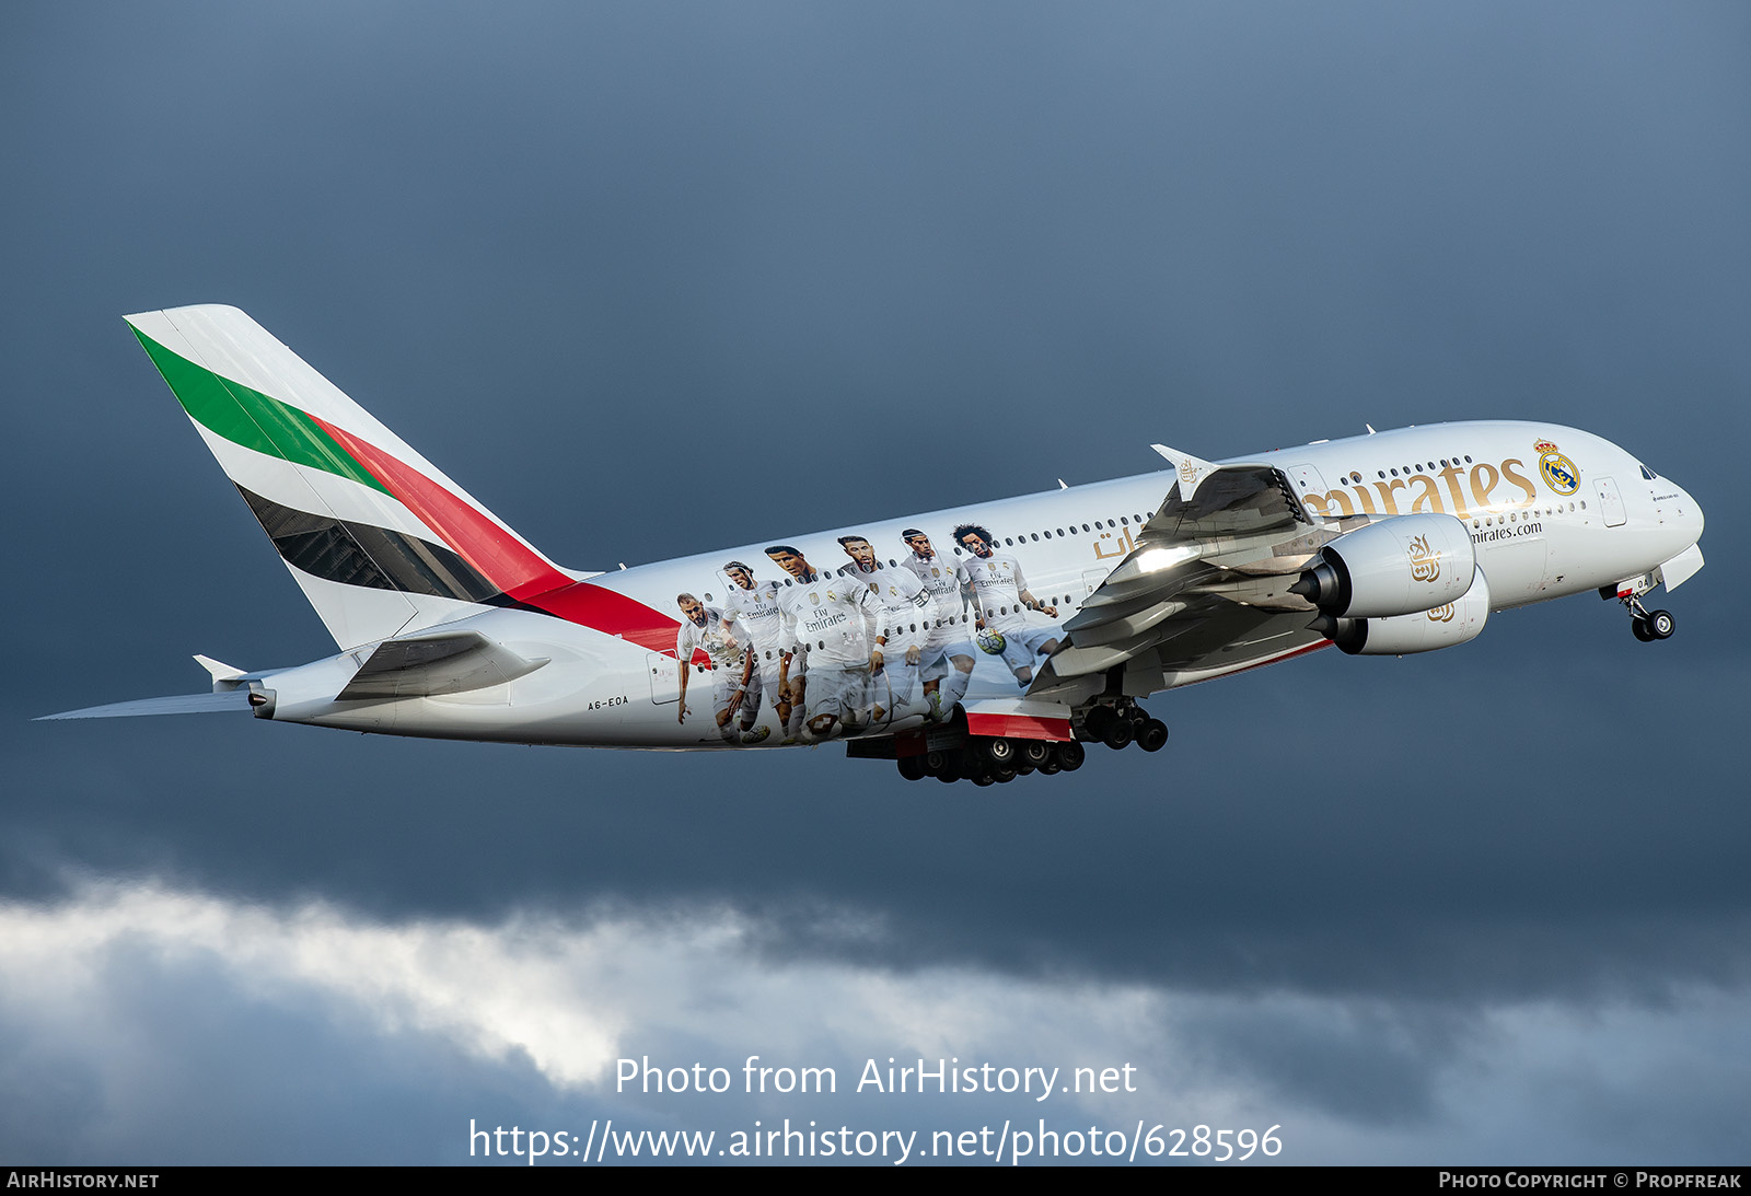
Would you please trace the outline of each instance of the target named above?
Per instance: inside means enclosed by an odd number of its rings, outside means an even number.
[[[1546,452],[1546,445],[1553,448]],[[1544,459],[1551,459],[1550,469]],[[1550,424],[1434,424],[1233,461],[1276,464],[1315,520],[1415,511],[1460,518],[1488,578],[1492,609],[1641,576],[1695,545],[1702,534],[1702,511],[1681,487],[1663,476],[1646,478],[1635,457],[1599,436]],[[1024,618],[1049,630],[1080,609],[1100,580],[1126,557],[1140,522],[1161,506],[1175,480],[1173,471],[1161,471],[816,534],[779,532],[767,541],[597,576],[594,583],[664,613],[676,611],[676,595],[683,592],[721,608],[721,569],[728,560],[751,562],[762,583],[777,581],[784,594],[786,574],[765,555],[767,545],[791,545],[816,569],[837,571],[849,564],[839,538],[861,536],[874,545],[884,569],[890,560],[905,567],[911,548],[900,532],[916,527],[930,536],[942,562],[954,566],[970,555],[965,548],[956,553],[953,529],[979,524],[995,538],[998,553],[1021,562],[1031,597],[1058,608],[1056,618],[1028,609],[1019,616],[1014,611],[1000,615],[995,623],[1010,620],[1014,625],[1012,620]],[[548,664],[485,690],[336,704],[326,695],[345,683],[355,658],[368,655],[343,653],[263,674],[264,688],[278,695],[273,716],[403,735],[725,749],[709,702],[690,700],[688,706],[704,713],[678,720],[674,657],[532,611],[462,609],[469,611],[462,625]],[[972,632],[970,625],[951,629],[947,639],[970,639]],[[1177,683],[1266,662],[1254,658]],[[762,660],[760,667],[776,667],[776,662]],[[800,664],[793,662],[791,676],[800,672]],[[709,679],[709,672],[693,676],[700,693]],[[1019,693],[1003,662],[981,653],[967,700]],[[760,718],[772,720],[776,713],[763,709]],[[779,741],[774,734],[763,744]]]

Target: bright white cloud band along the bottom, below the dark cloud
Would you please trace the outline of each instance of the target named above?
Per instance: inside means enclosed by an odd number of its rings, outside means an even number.
[[[846,930],[872,932],[854,918]],[[93,884],[53,905],[0,905],[0,1031],[21,1031],[39,1065],[44,1052],[75,1059],[112,1101],[149,1100],[142,1077],[187,1065],[140,1033],[149,1019],[135,1005],[152,998],[130,977],[170,977],[172,989],[243,1010],[245,1024],[315,1010],[319,1037],[461,1054],[501,1077],[532,1065],[552,1096],[630,1101],[658,1119],[674,1107],[615,1093],[620,1056],[727,1066],[737,1089],[748,1054],[833,1066],[844,1094],[835,1117],[876,1112],[849,1094],[867,1058],[1044,1065],[1063,1080],[1073,1066],[1129,1063],[1136,1093],[981,1098],[979,1108],[1084,1124],[1282,1124],[1285,1161],[1592,1161],[1606,1149],[1641,1163],[1702,1161],[1737,1142],[1707,1110],[1742,1108],[1751,1089],[1744,991],[1698,989],[1662,1007],[1432,1010],[774,960],[760,939],[749,918],[709,907],[387,925],[319,902],[275,909]],[[1347,1094],[1359,1086],[1375,1091]],[[1382,1112],[1394,1093],[1404,1112]],[[737,1108],[749,1108],[746,1098]],[[916,1121],[942,1107],[884,1108]]]

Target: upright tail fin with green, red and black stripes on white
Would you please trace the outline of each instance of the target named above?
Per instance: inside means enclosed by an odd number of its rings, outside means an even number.
[[[341,648],[574,580],[243,312],[126,319]]]

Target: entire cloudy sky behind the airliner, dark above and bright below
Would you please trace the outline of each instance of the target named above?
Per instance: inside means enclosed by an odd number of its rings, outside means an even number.
[[[1045,1117],[1744,1163],[1747,112],[1739,4],[14,5],[0,1159]],[[1448,419],[1625,445],[1709,564],[1669,643],[1571,597],[1002,790],[30,723],[331,651],[121,320],[208,301],[580,569]],[[1138,1091],[851,1091],[890,1056]]]

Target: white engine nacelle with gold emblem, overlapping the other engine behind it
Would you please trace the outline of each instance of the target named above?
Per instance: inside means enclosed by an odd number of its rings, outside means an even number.
[[[1476,567],[1471,532],[1457,518],[1399,515],[1320,548],[1289,592],[1336,618],[1417,615],[1464,597]]]

